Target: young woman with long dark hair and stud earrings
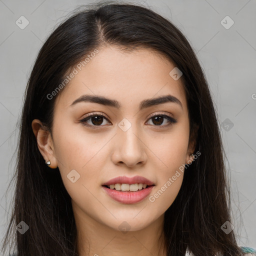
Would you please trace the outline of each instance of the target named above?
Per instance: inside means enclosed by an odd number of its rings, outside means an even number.
[[[52,32],[27,84],[18,152],[4,251],[10,230],[18,256],[249,250],[232,230],[203,71],[147,8],[100,3]]]

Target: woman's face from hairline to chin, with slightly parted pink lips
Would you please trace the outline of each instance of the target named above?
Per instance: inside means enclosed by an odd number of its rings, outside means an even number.
[[[179,168],[193,152],[185,91],[181,79],[169,75],[173,68],[148,49],[127,53],[113,46],[76,68],[56,98],[52,134],[39,148],[50,167],[58,166],[74,213],[116,230],[126,221],[132,231],[172,204],[183,178]],[[152,101],[162,96],[169,97]],[[146,183],[143,178],[152,184],[137,192],[102,186],[119,176],[142,177],[119,180],[123,189]]]

